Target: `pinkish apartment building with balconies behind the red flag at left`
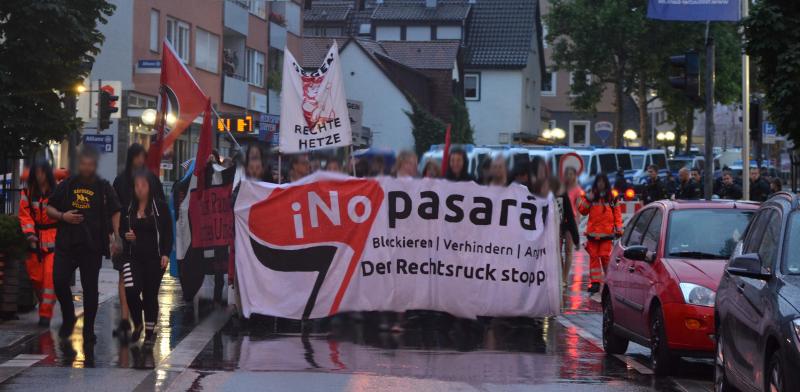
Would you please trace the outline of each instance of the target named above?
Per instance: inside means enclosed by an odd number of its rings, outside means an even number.
[[[280,111],[280,68],[275,64],[281,64],[286,47],[300,48],[299,0],[112,2],[116,11],[99,26],[106,40],[85,82],[89,91],[80,95],[78,103],[86,124],[84,135],[97,134],[97,98],[92,91],[98,82],[118,89],[114,94],[120,97],[119,117],[100,132],[112,143],[100,149],[104,177],[119,172],[131,143],[148,145],[154,133],[152,121],[142,115],[156,108],[163,40],[170,42],[222,117],[252,119],[254,132],[242,132],[243,138],[258,138],[259,119]],[[276,77],[277,88],[271,82]],[[180,163],[194,158],[200,122],[198,118],[175,142],[169,161],[162,165],[165,183],[179,178]],[[226,156],[232,143],[219,133],[215,145]],[[66,162],[66,154],[61,155]]]

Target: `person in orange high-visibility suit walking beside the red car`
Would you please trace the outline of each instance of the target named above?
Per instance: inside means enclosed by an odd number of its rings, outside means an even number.
[[[592,190],[578,198],[578,211],[588,215],[586,224],[586,252],[589,253],[589,293],[600,291],[603,271],[608,267],[611,244],[622,235],[622,214],[613,194],[608,177],[598,174]]]

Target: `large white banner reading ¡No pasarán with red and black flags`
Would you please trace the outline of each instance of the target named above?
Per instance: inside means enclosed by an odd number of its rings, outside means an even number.
[[[557,213],[552,198],[517,185],[326,172],[284,185],[243,181],[234,206],[242,310],[554,315]]]

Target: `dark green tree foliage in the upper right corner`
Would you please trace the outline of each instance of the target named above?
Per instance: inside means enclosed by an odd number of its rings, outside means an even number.
[[[800,3],[759,0],[744,27],[769,117],[781,134],[800,145]]]

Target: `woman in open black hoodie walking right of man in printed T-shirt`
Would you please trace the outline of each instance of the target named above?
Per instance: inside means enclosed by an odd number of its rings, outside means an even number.
[[[134,324],[131,340],[138,341],[144,329],[145,342],[152,344],[158,318],[158,290],[172,250],[172,218],[167,203],[154,196],[147,172],[134,173],[133,185],[131,202],[124,210],[126,218],[120,226],[128,252],[123,266],[125,291]]]

